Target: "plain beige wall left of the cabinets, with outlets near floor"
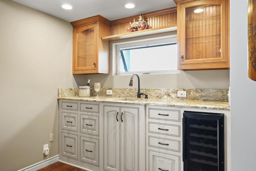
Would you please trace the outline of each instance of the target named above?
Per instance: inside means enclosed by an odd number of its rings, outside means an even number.
[[[57,89],[76,86],[72,26],[11,0],[0,22],[0,170],[16,171],[58,155]]]

